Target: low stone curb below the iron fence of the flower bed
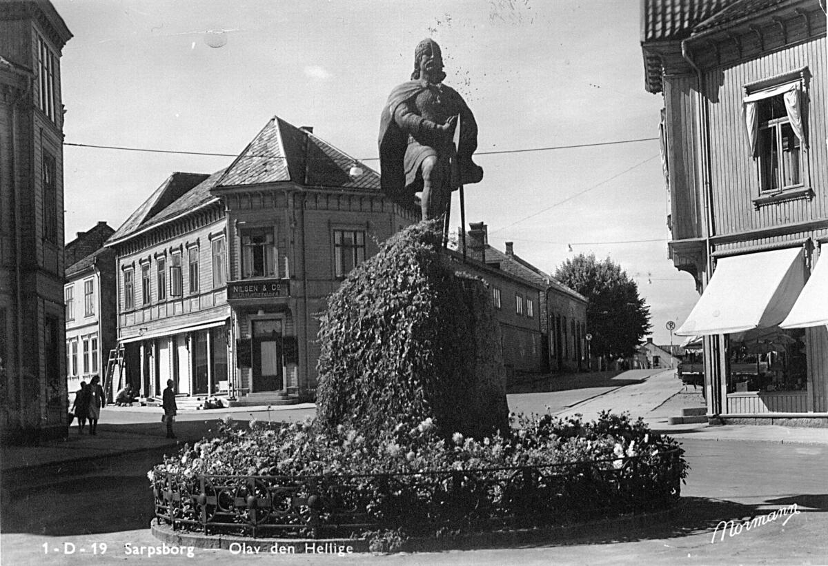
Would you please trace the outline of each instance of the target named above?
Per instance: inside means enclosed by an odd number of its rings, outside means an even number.
[[[669,509],[638,515],[609,517],[591,522],[535,529],[494,530],[448,537],[414,537],[402,544],[399,552],[434,552],[517,546],[521,544],[575,544],[617,538],[630,530],[673,521],[684,511],[679,500]],[[204,535],[176,531],[170,525],[150,523],[152,535],[162,543],[200,549],[223,549],[231,554],[346,554],[368,553],[366,539],[253,539],[237,535]]]

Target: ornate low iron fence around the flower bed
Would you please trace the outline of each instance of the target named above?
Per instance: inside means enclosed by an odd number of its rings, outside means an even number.
[[[174,529],[256,537],[328,538],[404,526],[486,530],[672,506],[681,449],[520,468],[371,475],[153,478],[156,517]]]

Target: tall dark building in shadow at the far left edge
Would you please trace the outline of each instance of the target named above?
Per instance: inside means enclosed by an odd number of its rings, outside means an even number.
[[[0,429],[66,434],[63,100],[51,2],[0,2]]]

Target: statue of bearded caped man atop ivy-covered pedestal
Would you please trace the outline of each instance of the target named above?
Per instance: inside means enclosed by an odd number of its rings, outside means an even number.
[[[479,183],[483,169],[471,157],[477,149],[477,122],[463,97],[443,84],[440,46],[425,39],[414,51],[412,79],[388,96],[379,125],[383,191],[411,203],[422,191],[422,218],[440,218],[460,184]],[[453,140],[460,119],[460,142]],[[452,169],[455,176],[452,177]],[[459,175],[459,178],[457,178]]]

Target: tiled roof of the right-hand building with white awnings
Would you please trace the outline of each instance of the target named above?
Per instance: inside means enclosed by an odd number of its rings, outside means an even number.
[[[700,22],[739,0],[643,0],[641,41],[681,40]]]

